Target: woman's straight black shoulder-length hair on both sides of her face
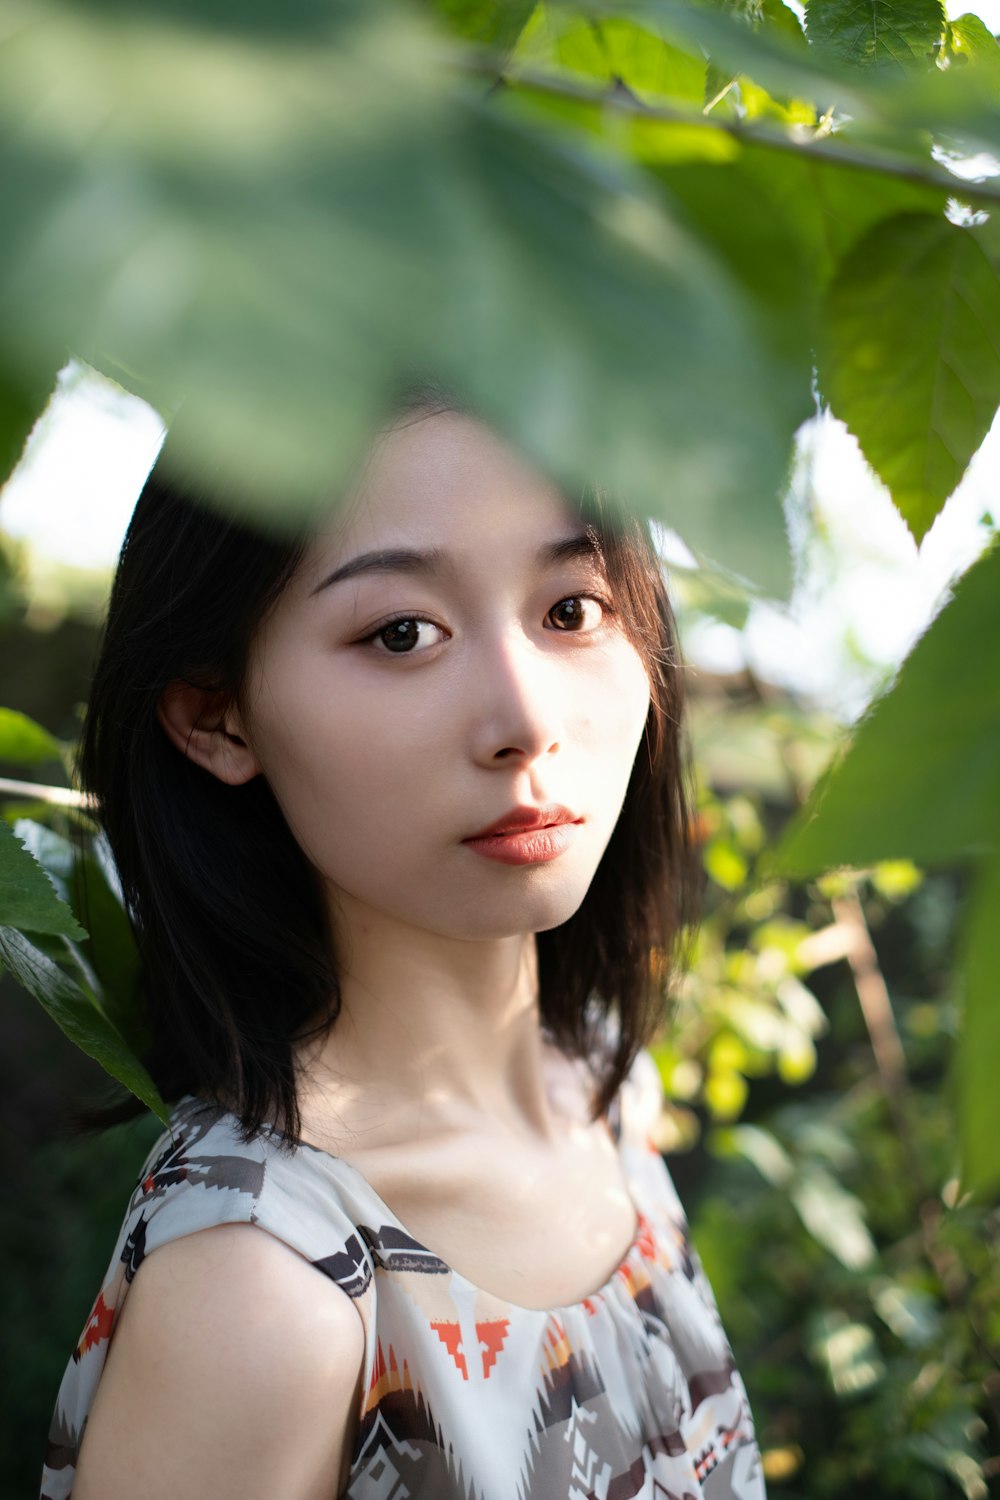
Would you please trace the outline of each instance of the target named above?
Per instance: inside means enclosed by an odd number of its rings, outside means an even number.
[[[448,410],[412,398],[405,411]],[[169,444],[169,438],[168,438]],[[301,1130],[292,1047],[322,1035],[340,992],[319,882],[262,776],[228,786],[184,758],[157,718],[186,681],[238,700],[255,633],[304,538],[279,538],[153,468],[129,525],[96,662],[79,780],[111,844],[141,960],[162,1096],[223,1104],[244,1137]],[[700,878],[676,627],[649,526],[579,506],[601,546],[624,630],[651,681],[622,812],[574,915],[537,936],[541,1022],[595,1076],[603,1114],[664,1016]],[[141,1113],[127,1098],[84,1119]]]

